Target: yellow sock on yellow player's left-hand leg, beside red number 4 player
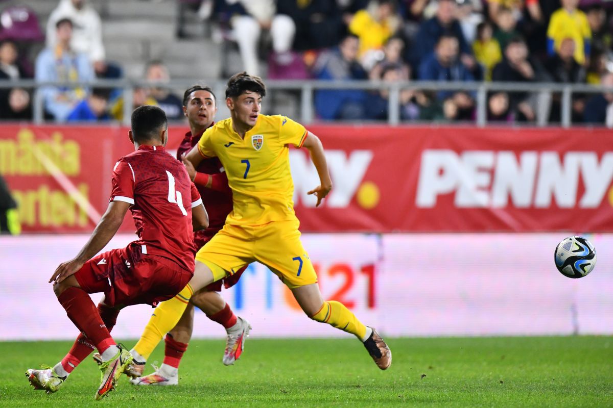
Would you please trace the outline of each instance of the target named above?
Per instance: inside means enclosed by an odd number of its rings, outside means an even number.
[[[188,283],[175,297],[160,303],[156,307],[145,330],[143,330],[143,334],[140,336],[139,342],[134,346],[134,350],[138,354],[146,359],[149,358],[162,337],[170,332],[181,319],[193,294],[194,290]]]

